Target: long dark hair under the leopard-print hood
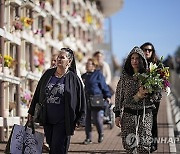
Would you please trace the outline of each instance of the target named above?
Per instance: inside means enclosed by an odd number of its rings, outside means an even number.
[[[134,53],[136,53],[136,52],[134,52]],[[124,64],[124,70],[130,76],[133,76],[133,74],[134,74],[134,69],[131,65],[131,56],[134,53],[132,53],[131,55],[128,56],[128,58]],[[146,62],[145,62],[145,60],[143,60],[143,58],[140,54],[138,54],[138,55],[139,55],[139,73],[144,73],[144,72],[146,72]]]

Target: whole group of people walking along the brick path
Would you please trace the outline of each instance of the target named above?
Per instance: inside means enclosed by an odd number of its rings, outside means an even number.
[[[28,111],[28,120],[32,121],[36,104],[43,101],[41,125],[49,153],[67,153],[70,136],[81,125],[85,126],[86,134],[83,144],[92,143],[92,124],[97,128],[98,143],[103,142],[103,118],[114,94],[110,88],[111,70],[103,52],[96,51],[87,59],[83,74],[78,73],[74,52],[69,48],[62,48],[53,55],[51,62],[51,68],[38,82]],[[157,143],[151,141],[158,136],[161,91],[148,93],[134,76],[135,73],[145,73],[150,62],[159,62],[152,43],[134,47],[126,58],[115,90],[115,124],[121,128],[122,143],[127,153],[145,154],[157,150]],[[131,134],[136,140],[133,146],[127,142]]]

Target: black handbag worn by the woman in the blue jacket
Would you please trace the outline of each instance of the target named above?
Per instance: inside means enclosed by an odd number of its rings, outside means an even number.
[[[89,96],[89,102],[91,108],[104,108],[104,98],[103,95],[91,95]]]

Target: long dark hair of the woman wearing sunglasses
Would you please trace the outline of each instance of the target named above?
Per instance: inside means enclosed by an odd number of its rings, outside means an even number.
[[[157,55],[156,55],[156,50],[155,50],[154,45],[153,45],[152,43],[150,43],[150,42],[145,42],[143,45],[140,46],[140,48],[144,51],[144,48],[145,48],[146,46],[148,46],[148,45],[150,45],[150,46],[152,47],[152,56],[151,56],[150,59],[147,59],[147,62],[148,62],[148,64],[149,64],[150,62],[152,62],[152,63],[157,63],[157,62],[158,62],[158,57],[157,57]]]

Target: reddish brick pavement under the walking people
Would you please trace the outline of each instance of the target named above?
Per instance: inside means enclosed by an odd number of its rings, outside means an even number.
[[[168,110],[167,110],[168,109]],[[173,122],[171,118],[171,108],[166,96],[163,96],[160,111],[158,114],[158,131],[159,144],[156,154],[180,154],[176,151],[176,146],[172,142],[173,139]],[[85,139],[84,128],[79,128],[75,131],[75,135],[71,138],[69,154],[124,154],[125,150],[122,147],[120,129],[116,126],[113,129],[109,125],[104,125],[104,141],[98,143],[98,134],[93,128],[93,143],[84,145],[82,142]],[[6,143],[0,143],[0,153],[3,153]],[[179,144],[180,145],[180,144]]]

